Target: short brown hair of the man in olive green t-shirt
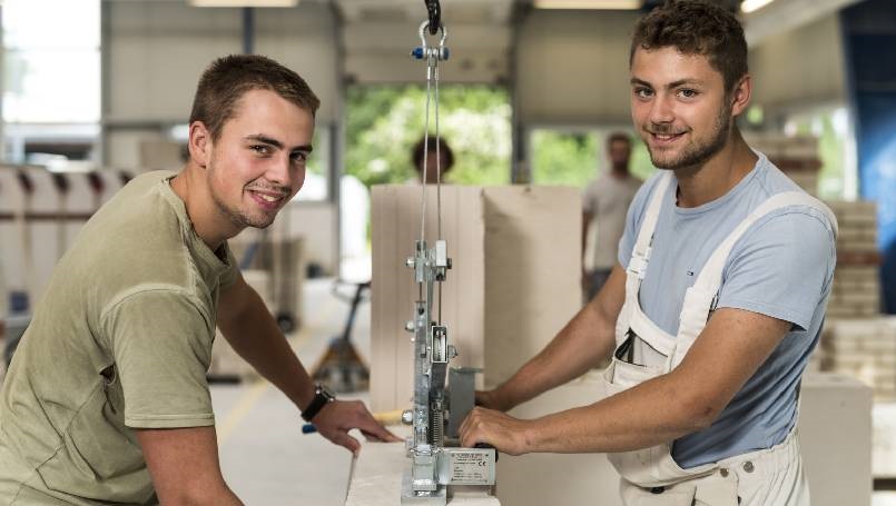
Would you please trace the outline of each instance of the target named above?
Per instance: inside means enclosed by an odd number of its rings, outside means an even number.
[[[250,90],[274,91],[312,116],[321,106],[321,100],[296,72],[258,54],[230,54],[213,61],[203,72],[189,122],[201,121],[211,139],[218,140],[237,102]]]

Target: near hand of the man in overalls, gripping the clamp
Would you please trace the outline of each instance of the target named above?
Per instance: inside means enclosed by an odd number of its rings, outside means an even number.
[[[461,446],[488,443],[508,455],[522,455],[529,453],[526,430],[531,426],[530,420],[475,407],[461,425]]]

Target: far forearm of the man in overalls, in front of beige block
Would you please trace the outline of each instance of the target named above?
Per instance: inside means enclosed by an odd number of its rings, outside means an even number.
[[[508,409],[595,367],[614,344],[613,325],[597,299],[582,308],[553,340],[498,388]]]

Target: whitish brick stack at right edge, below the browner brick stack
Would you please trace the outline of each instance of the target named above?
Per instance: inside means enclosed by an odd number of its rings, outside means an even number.
[[[820,347],[823,369],[859,379],[875,400],[896,400],[896,318],[828,320]]]

